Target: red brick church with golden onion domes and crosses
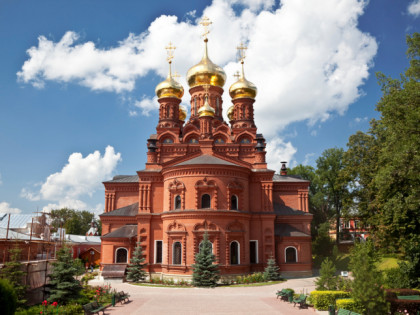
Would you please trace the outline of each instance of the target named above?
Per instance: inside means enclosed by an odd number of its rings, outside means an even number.
[[[207,33],[203,57],[187,73],[189,119],[180,106],[184,89],[171,74],[170,45],[145,168],[104,182],[104,277],[122,277],[138,241],[152,277],[191,277],[205,232],[222,275],[262,271],[271,256],[282,274],[311,273],[309,182],[287,176],[284,163],[280,175],[267,169],[254,122],[257,88],[245,78],[242,45],[242,74],[229,88],[233,105],[224,121],[226,74],[208,56]]]

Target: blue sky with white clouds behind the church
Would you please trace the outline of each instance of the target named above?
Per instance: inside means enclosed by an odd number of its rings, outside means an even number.
[[[278,171],[315,166],[379,117],[375,73],[408,67],[420,0],[0,0],[0,213],[102,213],[102,182],[144,168],[169,42],[189,109],[203,16],[209,56],[227,74],[225,112],[236,47],[248,47],[255,123]]]

